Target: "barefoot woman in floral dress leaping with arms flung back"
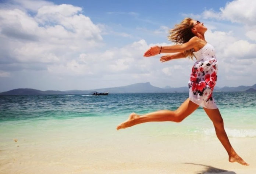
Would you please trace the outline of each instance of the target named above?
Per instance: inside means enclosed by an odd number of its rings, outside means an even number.
[[[184,57],[193,58],[194,55],[197,61],[193,65],[188,84],[189,98],[175,111],[159,110],[142,116],[131,113],[128,120],[117,126],[117,130],[145,122],[181,122],[199,106],[202,106],[213,122],[217,137],[228,153],[229,161],[248,166],[249,164],[238,156],[232,148],[224,130],[220,111],[212,96],[217,80],[218,64],[213,46],[205,40],[206,31],[207,28],[203,23],[191,18],[185,18],[180,24],[175,25],[174,29],[170,30],[170,36],[168,38],[177,43],[176,45],[154,46],[144,54],[145,57],[150,57],[160,53],[177,52],[177,54],[162,56],[160,58],[161,62]]]

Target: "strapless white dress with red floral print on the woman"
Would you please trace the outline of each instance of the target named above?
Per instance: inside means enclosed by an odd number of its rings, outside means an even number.
[[[218,107],[212,95],[218,71],[215,49],[207,43],[193,54],[197,61],[193,65],[188,83],[189,99],[204,108],[216,109]]]

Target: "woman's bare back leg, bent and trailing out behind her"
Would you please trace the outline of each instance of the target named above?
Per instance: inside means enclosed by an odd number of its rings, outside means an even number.
[[[128,120],[126,120],[125,122],[117,126],[117,130],[121,128],[131,127],[131,126],[134,126],[135,124],[140,124],[145,122],[164,122],[164,121],[181,122],[198,107],[199,105],[193,103],[188,98],[175,111],[158,110],[156,112],[151,112],[142,116],[139,116],[136,113],[131,113]]]

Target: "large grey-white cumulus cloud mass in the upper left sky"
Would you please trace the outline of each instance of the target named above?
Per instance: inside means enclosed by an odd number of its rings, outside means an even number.
[[[5,47],[0,59],[11,58],[11,64],[60,64],[102,44],[101,30],[81,7],[30,0],[13,0],[7,7],[0,8],[0,45]]]

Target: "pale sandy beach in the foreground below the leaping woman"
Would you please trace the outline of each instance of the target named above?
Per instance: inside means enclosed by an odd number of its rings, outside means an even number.
[[[108,127],[90,127],[89,132],[80,121],[76,126],[65,123],[51,130],[34,128],[33,133],[21,127],[16,134],[10,132],[15,137],[6,134],[1,142],[0,173],[256,173],[255,137],[230,138],[237,153],[250,164],[242,166],[228,162],[217,137],[164,133],[161,129],[166,122],[117,131],[115,122],[109,120]]]

